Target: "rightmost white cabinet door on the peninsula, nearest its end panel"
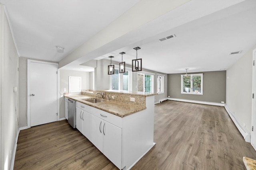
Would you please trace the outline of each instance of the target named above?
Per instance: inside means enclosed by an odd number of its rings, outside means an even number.
[[[103,154],[122,169],[122,129],[107,121],[103,124]]]

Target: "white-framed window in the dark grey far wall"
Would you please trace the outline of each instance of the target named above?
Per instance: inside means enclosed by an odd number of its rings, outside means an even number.
[[[182,94],[203,94],[203,74],[181,75]]]

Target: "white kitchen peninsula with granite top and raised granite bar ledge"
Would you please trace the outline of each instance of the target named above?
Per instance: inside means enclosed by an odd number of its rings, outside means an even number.
[[[128,170],[155,145],[155,94],[102,92],[65,97],[76,100],[76,128],[119,169]],[[88,102],[92,98],[104,99]]]

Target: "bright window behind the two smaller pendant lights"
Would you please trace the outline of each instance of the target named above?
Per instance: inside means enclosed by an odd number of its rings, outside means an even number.
[[[118,68],[118,67],[117,67]],[[131,71],[126,68],[126,72],[119,73],[119,70],[114,70],[114,74],[110,75],[110,89],[112,90],[130,90],[130,74]]]

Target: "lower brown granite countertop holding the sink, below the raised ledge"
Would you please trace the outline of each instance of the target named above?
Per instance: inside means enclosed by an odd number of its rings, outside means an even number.
[[[145,106],[127,104],[124,102],[116,102],[115,100],[108,100],[108,101],[104,100],[104,102],[100,102],[100,103],[91,103],[91,102],[82,100],[82,99],[94,99],[94,97],[86,96],[86,95],[73,95],[73,96],[65,95],[64,97],[76,100],[83,104],[95,107],[97,109],[101,109],[103,111],[112,113],[120,117],[124,117],[126,115],[130,115],[132,113],[136,113],[138,111],[146,109]]]

